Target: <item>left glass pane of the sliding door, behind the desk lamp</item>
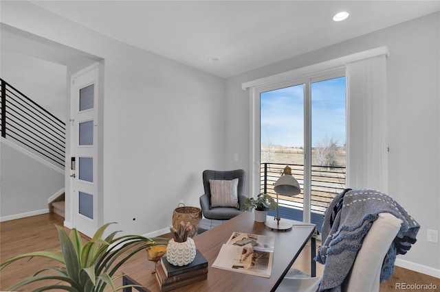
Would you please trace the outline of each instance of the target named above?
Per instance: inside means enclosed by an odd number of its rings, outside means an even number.
[[[286,165],[300,183],[295,197],[279,195],[281,217],[303,220],[304,84],[266,91],[260,95],[261,193],[276,197],[274,183]],[[270,215],[276,215],[271,211]]]

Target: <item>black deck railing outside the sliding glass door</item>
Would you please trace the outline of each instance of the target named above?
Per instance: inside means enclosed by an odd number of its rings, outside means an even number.
[[[274,184],[280,178],[285,166],[281,163],[261,164],[261,193],[276,195]],[[289,167],[292,168],[292,175],[300,184],[301,193],[295,197],[283,195],[278,195],[278,197],[287,202],[289,206],[303,208],[304,165],[289,165]],[[311,212],[324,214],[333,197],[344,190],[345,169],[345,167],[311,166]]]

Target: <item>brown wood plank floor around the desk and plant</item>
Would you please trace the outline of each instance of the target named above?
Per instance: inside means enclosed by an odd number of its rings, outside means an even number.
[[[54,225],[63,226],[63,217],[54,213],[38,215],[23,219],[5,221],[0,223],[0,260],[11,258],[25,252],[60,249],[58,234]],[[84,238],[86,240],[86,238]],[[137,263],[136,257],[131,258],[123,267],[129,267]],[[42,267],[50,267],[56,263],[42,258],[21,260],[0,271],[0,291],[7,291],[13,284],[32,276],[34,271]],[[310,245],[294,263],[294,268],[310,273]],[[323,266],[317,264],[317,275],[322,275]],[[380,285],[380,291],[399,291],[397,283],[406,284],[436,284],[440,291],[440,279],[417,273],[401,267],[395,267],[393,277]],[[41,284],[41,283],[40,283]],[[116,283],[119,284],[121,283]],[[32,291],[40,287],[30,284],[21,291]],[[117,286],[118,287],[118,286]],[[408,290],[406,290],[408,291]],[[217,292],[217,291],[213,291]],[[223,292],[223,291],[221,291]],[[230,291],[228,291],[230,292]]]

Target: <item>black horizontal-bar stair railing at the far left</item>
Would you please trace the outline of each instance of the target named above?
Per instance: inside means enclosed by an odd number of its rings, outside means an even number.
[[[65,123],[0,78],[1,136],[58,167],[65,165]]]

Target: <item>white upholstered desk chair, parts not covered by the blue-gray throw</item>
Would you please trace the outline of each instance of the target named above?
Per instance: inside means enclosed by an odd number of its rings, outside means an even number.
[[[390,213],[380,213],[366,234],[349,274],[345,291],[379,291],[380,270],[386,252],[401,226],[401,219]],[[284,278],[276,289],[283,291],[316,291],[320,278]]]

